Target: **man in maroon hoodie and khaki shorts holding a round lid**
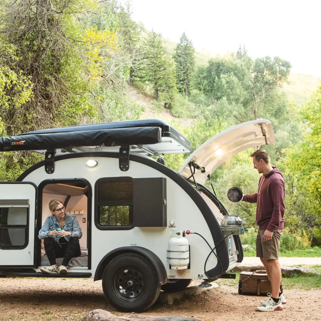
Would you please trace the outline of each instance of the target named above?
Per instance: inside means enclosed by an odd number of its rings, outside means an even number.
[[[256,224],[259,227],[256,237],[256,256],[260,257],[271,281],[272,294],[259,311],[282,310],[286,299],[281,291],[281,269],[279,265],[280,238],[284,228],[284,195],[285,184],[279,169],[272,167],[270,157],[264,149],[250,155],[254,168],[260,177],[257,192],[243,195],[242,201],[257,203]]]

